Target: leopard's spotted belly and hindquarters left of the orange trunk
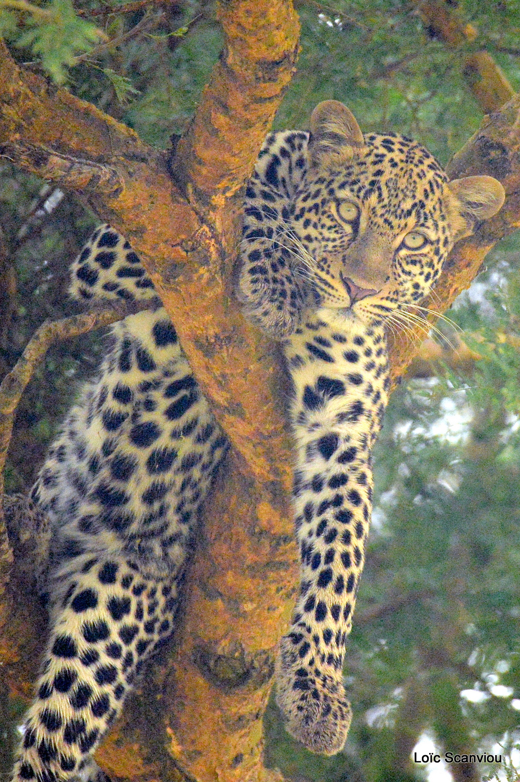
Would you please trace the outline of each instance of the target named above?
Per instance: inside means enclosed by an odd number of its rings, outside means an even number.
[[[198,508],[226,451],[148,275],[109,226],[73,265],[71,292],[155,310],[112,327],[31,493],[54,528],[51,632],[15,780],[99,775],[89,757],[172,632]]]

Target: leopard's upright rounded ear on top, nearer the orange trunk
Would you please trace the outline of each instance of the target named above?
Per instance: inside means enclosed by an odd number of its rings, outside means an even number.
[[[337,100],[319,103],[312,112],[310,125],[309,163],[315,168],[340,166],[365,149],[365,139],[354,114]]]

